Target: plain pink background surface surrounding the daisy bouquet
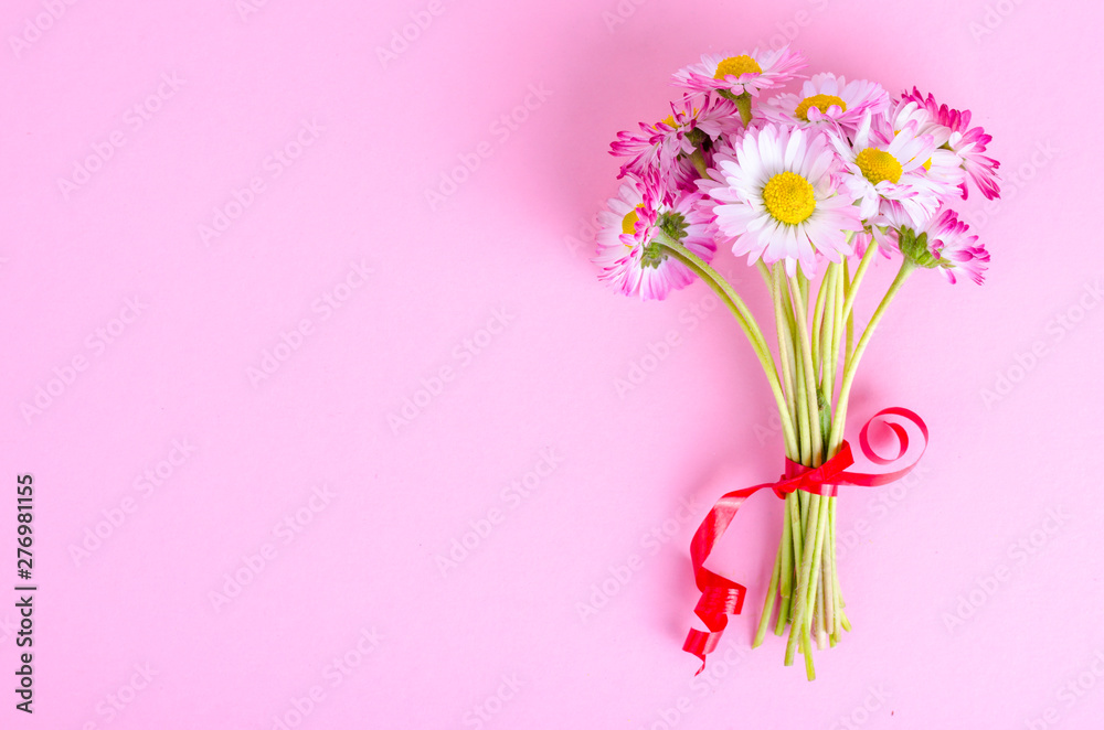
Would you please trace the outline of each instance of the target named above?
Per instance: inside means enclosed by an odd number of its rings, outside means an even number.
[[[0,12],[0,724],[1098,727],[1095,6],[254,4]],[[814,71],[973,108],[1006,200],[964,205],[988,283],[917,275],[863,362],[852,426],[906,406],[932,443],[909,481],[842,495],[854,630],[814,684],[781,640],[746,652],[764,497],[711,563],[752,592],[694,680],[690,536],[778,473],[782,439],[710,292],[613,294],[586,222],[672,71],[787,35]],[[33,717],[11,691],[21,473]]]

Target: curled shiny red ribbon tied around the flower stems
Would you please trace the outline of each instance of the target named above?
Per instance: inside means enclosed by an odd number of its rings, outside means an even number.
[[[903,468],[900,466],[900,463],[909,451],[909,432],[901,423],[890,421],[888,417],[891,416],[899,417],[905,422],[911,423],[922,434],[920,453]],[[879,457],[871,449],[867,431],[875,422],[884,423],[896,434],[899,450],[895,457],[885,459]],[[713,545],[721,539],[724,530],[732,523],[732,518],[736,516],[736,512],[743,505],[744,500],[760,490],[766,489],[774,490],[774,493],[779,498],[785,498],[787,494],[797,490],[804,490],[821,496],[836,496],[836,487],[840,484],[851,484],[854,486],[889,484],[911,472],[913,466],[920,461],[924,449],[927,448],[927,425],[911,410],[905,408],[887,408],[874,414],[862,427],[862,431],[859,433],[859,445],[862,449],[863,457],[873,464],[895,466],[895,469],[878,473],[847,471],[856,462],[850,444],[845,441],[840,447],[839,453],[816,469],[809,469],[787,459],[786,472],[777,482],[757,484],[744,490],[729,492],[718,500],[713,508],[705,515],[705,519],[702,520],[698,532],[694,533],[693,540],[690,543],[690,559],[693,562],[694,582],[698,583],[698,590],[701,591],[701,599],[698,601],[694,613],[698,614],[698,618],[702,620],[709,631],[691,629],[686,643],[682,645],[682,651],[689,652],[701,659],[701,668],[698,669],[694,676],[701,674],[701,670],[705,668],[705,655],[716,648],[716,644],[721,641],[721,634],[724,633],[724,627],[729,623],[729,614],[740,613],[744,604],[744,595],[747,593],[747,589],[740,583],[718,576],[704,567],[705,558],[713,550]]]

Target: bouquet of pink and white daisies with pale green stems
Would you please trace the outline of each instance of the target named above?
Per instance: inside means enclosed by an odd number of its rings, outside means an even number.
[[[805,67],[802,55],[781,49],[703,55],[676,73],[682,98],[671,114],[612,144],[626,162],[618,195],[599,214],[594,260],[602,280],[646,300],[696,278],[709,285],[763,366],[788,462],[813,470],[845,443],[859,362],[910,275],[930,269],[952,283],[981,283],[989,255],[952,206],[972,187],[998,197],[999,163],[985,154],[990,137],[970,126],[969,111],[915,88],[891,98],[873,82],[829,73],[785,90]],[[710,266],[721,247],[757,268],[773,302],[773,342]],[[854,301],[875,257],[900,270],[857,332]],[[849,629],[835,525],[835,496],[785,494],[753,644],[788,625],[785,662],[800,651],[810,679],[813,643],[834,645]],[[691,640],[687,651],[704,661],[715,641],[691,648]]]

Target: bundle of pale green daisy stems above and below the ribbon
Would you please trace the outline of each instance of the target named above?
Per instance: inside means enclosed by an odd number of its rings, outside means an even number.
[[[856,341],[854,301],[875,256],[874,240],[853,272],[845,258],[828,264],[819,282],[800,269],[788,276],[782,261],[768,266],[760,260],[756,266],[774,308],[775,353],[720,272],[666,234],[658,240],[716,292],[747,336],[774,394],[786,457],[816,468],[836,455],[859,361],[915,265],[902,257],[896,278]],[[752,646],[762,644],[771,630],[784,635],[788,625],[785,663],[792,665],[800,652],[811,680],[813,643],[821,650],[835,646],[842,632],[850,631],[843,608],[836,563],[836,497],[793,492],[785,498],[782,538]]]

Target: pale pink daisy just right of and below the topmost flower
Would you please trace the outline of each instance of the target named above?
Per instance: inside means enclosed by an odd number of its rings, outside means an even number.
[[[776,122],[807,126],[835,124],[854,131],[869,114],[890,107],[890,95],[878,84],[850,80],[835,74],[817,74],[805,82],[800,94],[779,94],[763,107],[763,116]]]

